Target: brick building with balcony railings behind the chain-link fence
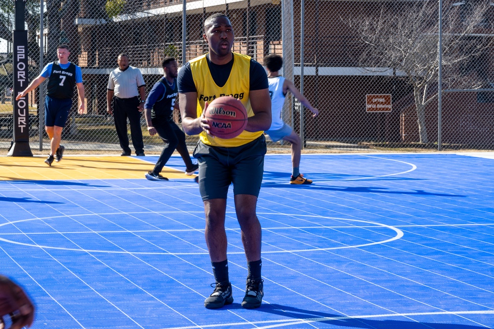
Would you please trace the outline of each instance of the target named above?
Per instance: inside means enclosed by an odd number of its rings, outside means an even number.
[[[396,4],[396,1],[388,2]],[[397,10],[406,11],[407,1],[398,2],[405,4]],[[206,51],[202,26],[204,19],[213,12],[225,12],[230,17],[236,31],[234,51],[248,54],[261,63],[266,54],[284,55],[282,4],[279,0],[189,1],[185,36],[182,35],[181,1],[114,0],[113,3],[116,4],[114,16],[109,17],[112,8],[108,8],[108,1],[82,0],[74,24],[66,27],[68,30],[76,29],[67,32],[69,38],[77,34],[80,40],[78,62],[84,75],[89,113],[103,114],[106,111],[107,78],[117,66],[119,53],[129,55],[130,64],[141,69],[150,88],[162,74],[163,57],[174,56],[179,63],[182,61],[183,38],[185,60]],[[362,45],[348,22],[356,15],[378,11],[380,7],[376,3],[305,1],[304,94],[321,110],[317,119],[305,113],[304,137],[307,140],[418,141],[413,89],[407,79],[392,69],[380,73],[366,72],[359,62]],[[293,63],[286,65],[292,67],[293,80],[299,85],[301,22],[297,10],[300,1],[293,1],[293,8],[292,40],[295,47]],[[490,55],[489,52],[488,58],[484,59],[489,66]],[[392,95],[392,111],[366,112],[366,94]],[[475,144],[479,139],[492,139],[490,127],[493,126],[493,117],[480,115],[489,113],[491,108],[490,103],[479,103],[476,93],[445,96],[443,141]],[[437,102],[430,102],[426,113],[430,141],[434,141],[437,136]],[[298,129],[296,109],[292,125]]]

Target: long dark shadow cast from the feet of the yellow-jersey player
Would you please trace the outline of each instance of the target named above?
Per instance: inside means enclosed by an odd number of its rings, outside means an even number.
[[[485,329],[480,326],[460,325],[460,324],[447,324],[447,323],[429,323],[429,322],[413,322],[413,321],[399,321],[399,320],[369,320],[369,319],[355,319],[347,318],[341,315],[335,315],[324,312],[315,312],[303,310],[300,308],[278,305],[278,304],[264,304],[261,308],[257,309],[259,312],[266,312],[276,314],[282,317],[291,317],[293,322],[300,320],[300,325],[306,324],[304,321],[310,321],[312,323],[326,323],[334,326],[349,327],[349,328],[369,328],[369,329]],[[451,316],[448,314],[448,316]],[[296,324],[293,322],[286,322]],[[309,322],[309,323],[310,323]]]

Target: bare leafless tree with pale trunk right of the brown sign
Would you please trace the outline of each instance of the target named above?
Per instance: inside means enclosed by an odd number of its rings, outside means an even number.
[[[490,0],[443,1],[442,87],[479,88],[488,81],[479,59],[493,46]],[[365,71],[392,68],[413,87],[420,143],[428,143],[425,108],[438,96],[438,1],[393,1],[375,14],[350,19],[361,41],[359,66]]]

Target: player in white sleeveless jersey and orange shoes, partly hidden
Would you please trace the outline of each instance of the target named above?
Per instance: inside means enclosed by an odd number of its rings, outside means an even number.
[[[271,138],[273,142],[284,140],[291,143],[291,164],[292,173],[290,178],[290,184],[310,184],[311,180],[308,180],[300,174],[300,137],[293,131],[293,129],[286,124],[281,118],[281,111],[283,110],[283,104],[285,103],[285,97],[288,91],[295,96],[303,106],[311,110],[314,113],[312,116],[316,117],[319,114],[319,110],[312,107],[309,101],[300,93],[295,87],[293,82],[279,75],[283,65],[283,59],[279,55],[271,54],[264,57],[264,67],[268,72],[269,83],[269,95],[271,96],[271,127],[266,130],[265,133]]]

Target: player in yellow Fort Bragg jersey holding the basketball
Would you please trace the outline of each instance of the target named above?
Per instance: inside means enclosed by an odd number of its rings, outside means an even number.
[[[200,135],[194,150],[199,162],[199,190],[206,214],[206,244],[211,259],[214,291],[206,308],[233,302],[228,276],[225,231],[228,188],[233,183],[235,211],[240,223],[247,258],[244,308],[261,306],[261,225],[256,215],[264,171],[266,140],[271,125],[271,99],[264,68],[250,57],[232,52],[234,32],[227,16],[213,14],[204,22],[209,52],[184,65],[178,73],[182,126],[188,135]],[[237,137],[222,139],[210,134],[204,111],[217,97],[237,96],[247,109],[246,129]]]

